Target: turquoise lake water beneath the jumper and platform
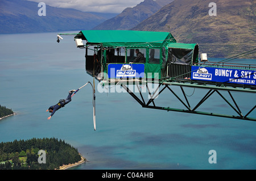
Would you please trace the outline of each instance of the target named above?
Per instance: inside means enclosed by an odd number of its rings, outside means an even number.
[[[65,99],[69,90],[93,81],[85,71],[85,52],[76,48],[73,36],[64,36],[57,44],[56,35],[0,35],[0,104],[18,113],[0,120],[0,142],[65,140],[89,160],[72,169],[256,169],[253,121],[149,110],[127,93],[96,91],[94,131],[90,86],[47,120],[49,106]],[[179,87],[173,90],[180,93]],[[185,92],[192,94],[193,89]],[[196,104],[206,92],[196,89],[189,101]],[[255,94],[233,95],[242,112],[255,105]],[[199,111],[236,114],[220,100],[213,94]],[[182,108],[169,91],[155,101]],[[250,117],[255,116],[254,110]],[[216,150],[216,164],[209,163],[209,150]]]

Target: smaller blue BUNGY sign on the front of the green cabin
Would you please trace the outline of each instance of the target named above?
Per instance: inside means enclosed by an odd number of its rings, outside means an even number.
[[[109,78],[144,78],[144,64],[109,64]]]

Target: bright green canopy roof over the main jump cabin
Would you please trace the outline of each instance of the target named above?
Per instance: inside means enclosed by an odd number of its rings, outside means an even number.
[[[163,47],[166,43],[176,43],[170,32],[152,31],[85,30],[75,38],[112,47]]]

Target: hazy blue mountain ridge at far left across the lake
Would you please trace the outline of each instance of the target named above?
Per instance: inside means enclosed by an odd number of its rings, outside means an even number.
[[[46,16],[39,16],[38,3],[1,0],[0,33],[28,33],[90,30],[105,18],[74,9],[46,6]]]

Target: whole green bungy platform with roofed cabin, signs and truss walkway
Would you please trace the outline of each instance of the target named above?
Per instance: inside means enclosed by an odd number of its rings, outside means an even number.
[[[256,53],[256,48],[222,61],[210,62],[207,54],[199,54],[199,44],[177,43],[170,32],[86,30],[59,33],[58,43],[60,35],[75,35],[76,47],[85,49],[85,69],[93,80],[97,79],[106,89],[121,86],[143,108],[256,121],[255,117],[249,117],[256,108],[255,102],[251,102],[253,105],[249,110],[242,110],[232,95],[233,92],[255,95],[256,65],[229,62]],[[133,62],[138,56],[137,50],[143,57],[143,63]],[[127,85],[138,90],[132,91]],[[150,90],[150,85],[156,85],[156,90]],[[142,87],[147,88],[148,100],[143,96]],[[180,91],[172,87],[179,87]],[[184,87],[192,88],[193,94],[187,95]],[[207,90],[207,94],[203,93],[201,98],[194,97],[196,104],[193,106],[190,99],[199,89]],[[168,107],[158,105],[156,98],[160,99],[163,91],[170,91],[183,108],[177,107],[173,101]],[[220,113],[220,110],[215,113],[212,108],[198,111],[214,93],[234,115]],[[228,108],[225,109],[229,111]]]

